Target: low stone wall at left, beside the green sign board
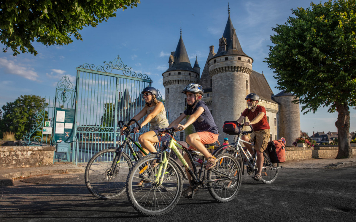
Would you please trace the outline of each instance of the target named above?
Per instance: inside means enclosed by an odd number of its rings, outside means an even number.
[[[0,169],[53,164],[54,146],[0,146]]]

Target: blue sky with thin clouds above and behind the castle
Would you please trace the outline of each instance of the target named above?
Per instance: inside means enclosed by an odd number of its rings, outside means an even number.
[[[157,1],[142,0],[138,7],[117,11],[117,16],[96,28],[85,27],[80,33],[83,41],[69,45],[46,47],[34,43],[37,56],[12,56],[0,52],[0,107],[25,94],[53,98],[55,86],[63,75],[74,82],[75,67],[84,63],[102,65],[119,55],[124,64],[137,73],[147,74],[153,87],[163,94],[162,73],[168,69],[168,55],[173,52],[180,36],[194,64],[195,56],[203,71],[209,46],[218,50],[219,38],[227,21],[229,1]],[[230,17],[244,52],[253,58],[253,70],[265,74],[274,94],[277,81],[273,71],[263,63],[268,56],[267,45],[271,27],[282,24],[292,16],[291,9],[309,7],[310,0],[230,1]],[[315,1],[319,2],[319,1]],[[322,1],[324,2],[324,1]],[[1,47],[3,48],[3,47]],[[300,113],[300,127],[309,135],[313,131],[337,131],[337,113],[320,108],[315,114]],[[356,111],[350,108],[350,131],[356,131]]]

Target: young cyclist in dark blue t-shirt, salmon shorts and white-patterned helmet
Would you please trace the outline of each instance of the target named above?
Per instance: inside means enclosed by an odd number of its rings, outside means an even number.
[[[190,145],[189,149],[194,147],[205,156],[207,160],[205,169],[210,170],[215,166],[216,158],[206,150],[204,144],[211,144],[218,140],[218,126],[216,126],[213,116],[206,104],[201,101],[204,94],[203,87],[198,84],[190,83],[184,88],[182,93],[187,96],[187,109],[185,109],[182,115],[174,120],[168,128],[173,126],[176,131],[180,131],[187,128],[190,124],[193,124],[196,132],[185,137],[185,141]],[[179,124],[188,115],[189,118],[187,122],[184,125]],[[182,128],[179,129],[179,127]],[[187,153],[184,155],[184,159],[189,164],[189,167],[193,168]],[[188,172],[187,175],[190,182],[191,176]],[[189,186],[182,195],[189,197],[192,195],[192,191],[192,187]]]

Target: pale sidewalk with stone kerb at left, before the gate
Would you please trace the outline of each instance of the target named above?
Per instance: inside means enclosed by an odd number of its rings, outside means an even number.
[[[70,163],[54,163],[52,166],[0,169],[0,186],[13,186],[14,179],[20,177],[84,172],[85,166],[76,166]]]

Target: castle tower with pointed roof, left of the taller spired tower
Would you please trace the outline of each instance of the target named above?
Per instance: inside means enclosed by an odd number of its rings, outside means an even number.
[[[200,67],[198,61],[192,68],[187,50],[185,50],[182,39],[182,31],[175,52],[169,56],[169,68],[163,72],[164,107],[169,112],[171,121],[177,119],[187,107],[185,94],[182,90],[189,83],[197,83],[200,78]],[[180,135],[182,137],[182,135]],[[185,135],[183,136],[185,139]]]

